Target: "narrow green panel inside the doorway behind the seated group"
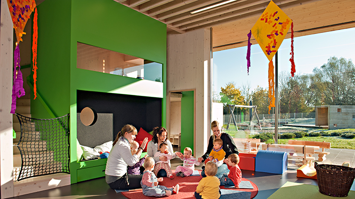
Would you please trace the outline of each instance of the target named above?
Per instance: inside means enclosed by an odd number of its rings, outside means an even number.
[[[194,151],[194,91],[183,91],[181,98],[181,152]]]

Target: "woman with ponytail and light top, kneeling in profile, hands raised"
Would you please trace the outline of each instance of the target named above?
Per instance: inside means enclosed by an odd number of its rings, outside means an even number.
[[[106,183],[111,189],[138,189],[141,188],[142,175],[127,173],[127,166],[136,164],[145,148],[148,138],[144,138],[137,153],[131,154],[130,143],[134,141],[137,129],[132,125],[125,125],[117,134],[113,142],[106,163]]]

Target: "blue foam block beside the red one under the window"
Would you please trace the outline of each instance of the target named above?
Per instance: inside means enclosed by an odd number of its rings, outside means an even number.
[[[255,157],[255,171],[283,174],[287,170],[287,153],[259,150]]]

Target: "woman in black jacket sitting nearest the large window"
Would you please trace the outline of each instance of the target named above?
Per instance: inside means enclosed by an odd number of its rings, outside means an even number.
[[[226,155],[224,156],[225,157],[224,160],[227,160],[228,156],[232,153],[239,154],[238,148],[235,145],[233,138],[229,134],[222,133],[221,125],[219,124],[218,121],[213,121],[211,123],[211,129],[213,131],[213,135],[210,137],[209,145],[207,147],[206,153],[202,157],[198,158],[199,162],[205,161],[210,156],[210,152],[213,149],[213,141],[215,139],[221,139],[223,141],[222,148],[223,148],[224,152],[226,153]],[[224,162],[224,163],[226,163],[226,162]],[[223,173],[227,173],[228,171],[229,170],[228,170],[227,165],[222,164],[221,166],[218,167],[218,171],[217,171],[216,176],[218,178],[221,178]],[[205,171],[202,171],[201,175],[203,177],[205,177],[206,176]]]

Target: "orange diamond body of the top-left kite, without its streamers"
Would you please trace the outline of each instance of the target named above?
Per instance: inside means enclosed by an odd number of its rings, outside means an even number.
[[[14,24],[17,42],[22,41],[22,35],[26,34],[24,28],[31,13],[36,7],[35,0],[7,0],[12,23]]]

